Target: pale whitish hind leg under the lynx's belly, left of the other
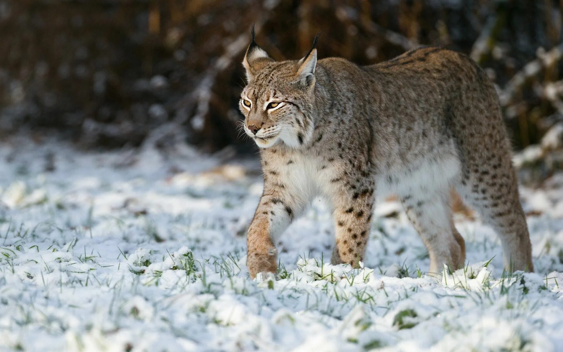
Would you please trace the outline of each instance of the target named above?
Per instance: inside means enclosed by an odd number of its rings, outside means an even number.
[[[428,249],[428,274],[434,276],[440,275],[444,264],[453,271],[463,268],[465,261],[465,243],[454,227],[448,195],[440,190],[401,197],[406,215]]]

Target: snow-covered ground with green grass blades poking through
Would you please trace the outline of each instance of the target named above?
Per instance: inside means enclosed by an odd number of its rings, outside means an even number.
[[[247,163],[248,164],[248,163]],[[256,172],[187,148],[86,153],[0,145],[0,350],[563,350],[563,176],[522,188],[534,274],[503,274],[493,231],[464,215],[466,269],[427,277],[399,204],[380,200],[365,267],[328,264],[316,201],[248,278]]]

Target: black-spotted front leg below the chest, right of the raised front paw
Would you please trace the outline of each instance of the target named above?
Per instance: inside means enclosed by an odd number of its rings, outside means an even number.
[[[358,191],[356,191],[358,190]],[[348,263],[358,268],[364,260],[368,243],[373,209],[373,184],[352,189],[333,200],[336,246],[332,252],[332,264]]]

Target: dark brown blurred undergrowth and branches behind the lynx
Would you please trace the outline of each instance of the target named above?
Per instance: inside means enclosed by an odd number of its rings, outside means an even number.
[[[562,8],[563,0],[0,0],[0,138],[253,153],[236,124],[255,23],[257,42],[277,60],[300,58],[318,32],[320,57],[358,64],[419,45],[464,52],[497,84],[520,150],[563,121]],[[563,128],[555,130],[560,140]]]

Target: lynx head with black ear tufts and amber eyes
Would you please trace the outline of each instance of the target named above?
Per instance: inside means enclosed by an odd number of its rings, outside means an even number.
[[[243,65],[248,78],[241,93],[244,131],[260,148],[283,142],[299,148],[311,139],[314,129],[316,36],[301,60],[274,61],[252,42]]]

